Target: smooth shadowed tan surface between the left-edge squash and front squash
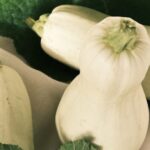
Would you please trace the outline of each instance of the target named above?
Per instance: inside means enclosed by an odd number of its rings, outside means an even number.
[[[54,121],[55,111],[66,84],[26,65],[16,57],[18,55],[13,48],[9,48],[9,44],[11,40],[7,41],[6,49],[14,55],[5,51],[3,46],[3,49],[0,48],[0,62],[15,69],[28,90],[33,113],[35,150],[55,150],[59,145]]]

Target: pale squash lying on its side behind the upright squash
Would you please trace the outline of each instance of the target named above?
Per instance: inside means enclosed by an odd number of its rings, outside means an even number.
[[[41,46],[48,55],[79,69],[79,54],[85,35],[105,17],[106,14],[90,8],[60,5],[50,15],[42,15],[37,21],[29,18],[27,23],[41,37]],[[150,35],[150,27],[145,28]],[[149,74],[142,83],[147,99],[150,99]]]

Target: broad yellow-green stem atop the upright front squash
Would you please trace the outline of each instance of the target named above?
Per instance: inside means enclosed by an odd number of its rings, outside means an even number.
[[[120,20],[119,28],[112,26],[103,37],[104,43],[116,53],[134,49],[136,39],[135,23],[127,19]]]

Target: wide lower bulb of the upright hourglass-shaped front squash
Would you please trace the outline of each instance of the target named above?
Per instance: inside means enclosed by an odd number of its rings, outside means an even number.
[[[117,99],[102,95],[79,75],[61,99],[56,125],[63,143],[88,138],[104,150],[139,150],[147,133],[148,118],[140,85]]]

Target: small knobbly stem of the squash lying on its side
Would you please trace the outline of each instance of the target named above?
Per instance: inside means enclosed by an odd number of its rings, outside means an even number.
[[[41,15],[38,20],[34,20],[31,17],[25,20],[26,24],[39,36],[43,36],[43,28],[47,22],[49,14]]]

